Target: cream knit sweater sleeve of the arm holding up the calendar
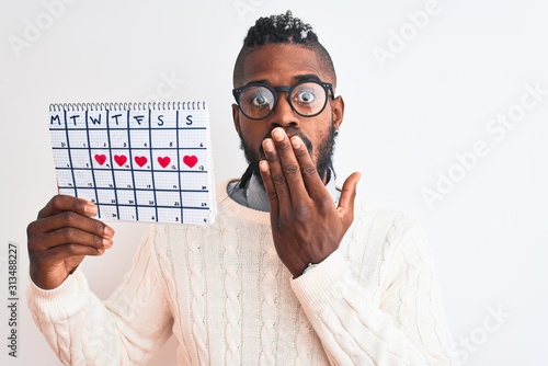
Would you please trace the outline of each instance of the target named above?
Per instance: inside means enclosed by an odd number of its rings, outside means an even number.
[[[147,240],[121,286],[107,301],[89,288],[80,270],[59,287],[32,282],[33,319],[64,365],[146,364],[171,334],[172,318]]]

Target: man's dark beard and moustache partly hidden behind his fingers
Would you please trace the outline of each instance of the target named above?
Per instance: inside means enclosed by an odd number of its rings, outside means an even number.
[[[301,138],[302,142],[307,147],[308,153],[312,156],[315,150],[315,146],[310,141],[310,139],[305,136],[298,128],[295,127],[286,127],[285,133],[290,138],[293,136],[298,136]],[[272,130],[264,135],[263,140],[270,138]],[[318,171],[318,175],[323,181],[328,174],[329,169],[333,170],[333,151],[335,147],[335,128],[333,124],[331,124],[329,128],[328,136],[320,142],[317,147],[318,149],[318,158],[316,161],[316,170]],[[259,161],[265,159],[264,150],[262,144],[259,146],[259,149],[253,150],[246,139],[240,134],[240,149],[243,151],[246,160],[248,161],[248,169],[240,182],[240,187],[247,185],[251,174],[255,175],[259,179],[261,185],[263,185],[263,180],[261,179],[261,172],[259,170]],[[259,152],[255,152],[259,151]]]

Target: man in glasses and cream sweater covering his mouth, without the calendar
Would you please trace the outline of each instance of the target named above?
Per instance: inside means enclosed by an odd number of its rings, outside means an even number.
[[[56,196],[28,226],[28,304],[66,364],[445,365],[431,254],[399,213],[354,204],[331,164],[344,114],[331,58],[286,14],[250,28],[232,117],[249,168],[218,187],[210,227],[153,226],[104,304],[78,270],[113,244],[96,207]]]

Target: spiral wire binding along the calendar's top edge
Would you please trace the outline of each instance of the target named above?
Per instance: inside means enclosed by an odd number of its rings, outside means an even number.
[[[83,112],[83,111],[165,111],[206,108],[206,102],[110,102],[110,103],[52,103],[49,112]]]

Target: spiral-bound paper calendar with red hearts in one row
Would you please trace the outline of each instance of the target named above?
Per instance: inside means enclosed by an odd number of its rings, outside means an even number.
[[[215,180],[205,102],[52,104],[60,194],[103,220],[210,225]]]

